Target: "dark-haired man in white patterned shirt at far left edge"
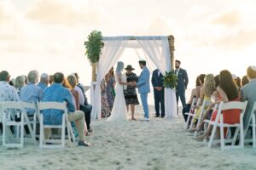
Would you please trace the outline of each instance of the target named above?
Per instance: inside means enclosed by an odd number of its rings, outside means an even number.
[[[10,75],[8,71],[0,72],[0,102],[20,101],[19,95],[15,89],[9,85]]]

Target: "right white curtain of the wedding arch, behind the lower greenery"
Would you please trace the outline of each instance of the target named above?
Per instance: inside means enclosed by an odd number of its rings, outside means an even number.
[[[166,75],[166,71],[172,70],[171,65],[171,54],[169,48],[169,42],[167,37],[155,38],[151,40],[137,40],[145,51],[146,61],[154,62],[154,65],[160,70],[163,75]],[[164,62],[163,62],[164,59]],[[171,88],[165,88],[165,109],[166,117],[172,118],[177,117],[177,101],[175,91]]]

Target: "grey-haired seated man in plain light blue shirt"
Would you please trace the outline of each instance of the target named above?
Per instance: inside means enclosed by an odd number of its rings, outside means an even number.
[[[39,88],[38,83],[39,74],[38,71],[29,71],[27,75],[28,83],[25,87],[20,89],[20,100],[25,102],[38,102],[41,101],[43,96],[43,89]],[[27,115],[32,116],[35,111],[27,110]]]

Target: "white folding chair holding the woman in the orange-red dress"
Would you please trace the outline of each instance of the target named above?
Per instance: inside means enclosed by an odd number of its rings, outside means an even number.
[[[239,101],[231,101],[231,102],[221,102],[218,107],[218,113],[214,122],[209,122],[209,125],[212,125],[212,134],[210,137],[210,141],[208,143],[208,147],[212,146],[213,138],[215,136],[217,127],[220,128],[220,145],[221,150],[231,149],[231,148],[243,148],[244,147],[244,135],[243,135],[243,115],[247,107],[247,101],[239,102]],[[222,112],[228,110],[241,110],[240,113],[240,122],[236,124],[227,124],[224,123],[224,117]],[[230,113],[232,114],[232,113]],[[234,134],[233,139],[224,139],[224,127],[236,127],[236,132]],[[235,145],[236,139],[238,137],[238,133],[240,133],[240,144]],[[219,142],[219,140],[215,140],[215,142]],[[230,143],[231,145],[225,146],[225,143]]]

